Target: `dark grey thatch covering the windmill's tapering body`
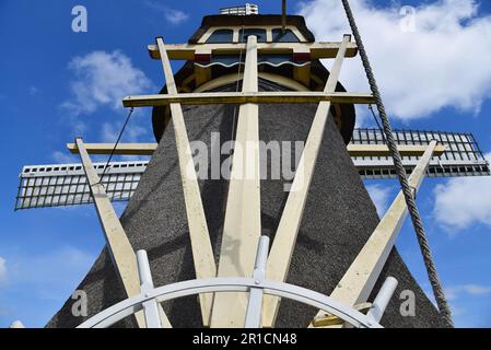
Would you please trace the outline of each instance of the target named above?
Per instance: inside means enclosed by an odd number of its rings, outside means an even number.
[[[260,84],[262,90],[271,88]],[[305,140],[315,105],[261,105],[260,138]],[[210,132],[219,131],[221,142],[230,140],[234,106],[189,106],[185,119],[190,140],[210,147]],[[215,254],[220,252],[223,225],[225,180],[201,180],[201,195]],[[282,180],[261,182],[264,234],[273,237],[287,192]],[[180,187],[177,152],[172,127],[167,127],[137,192],[121,222],[135,249],[147,249],[155,285],[195,278],[186,211]],[[305,215],[301,225],[288,281],[329,294],[378,223],[374,205],[354,168],[334,120],[329,118],[315,170]],[[218,256],[217,256],[218,260]],[[416,283],[396,250],[381,278],[399,281],[383,325],[386,327],[441,327],[442,319]],[[89,295],[89,312],[97,312],[124,299],[107,252],[104,250],[79,289]],[[416,317],[401,317],[398,295],[401,290],[417,295]],[[55,315],[48,327],[74,327],[83,319],[71,315],[71,300]],[[199,327],[196,298],[164,305],[175,327]],[[316,310],[283,302],[278,326],[305,327]],[[133,326],[131,320],[120,326]]]

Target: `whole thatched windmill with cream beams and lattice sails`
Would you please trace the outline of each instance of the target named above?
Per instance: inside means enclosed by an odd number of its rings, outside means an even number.
[[[250,4],[206,16],[187,44],[157,37],[148,49],[164,89],[122,100],[127,121],[153,107],[156,143],[75,138],[67,148],[80,164],[23,168],[15,209],[93,203],[107,243],[78,288],[89,316],[74,316],[69,300],[48,326],[446,325],[394,244],[424,176],[488,176],[489,164],[472,135],[393,132],[376,89],[346,91],[343,60],[360,54],[366,68],[366,57],[343,2],[355,42],[315,42],[303,18]],[[330,71],[319,59],[334,60]],[[174,74],[171,60],[186,63]],[[384,130],[355,129],[353,104],[376,104]],[[195,168],[190,141],[211,152],[212,132],[220,145],[235,142],[218,155],[232,164],[229,178]],[[292,182],[261,178],[265,140],[305,141]],[[91,154],[152,159],[93,163]],[[362,178],[397,176],[410,198],[401,191],[378,220]],[[129,200],[121,218],[118,200]],[[413,317],[398,314],[391,296],[402,290],[418,298]]]

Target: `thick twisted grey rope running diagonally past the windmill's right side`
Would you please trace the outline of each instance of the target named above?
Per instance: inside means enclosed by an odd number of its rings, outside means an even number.
[[[443,292],[442,285],[440,283],[439,275],[436,272],[436,268],[435,268],[435,265],[433,261],[433,257],[431,254],[428,237],[424,232],[423,223],[421,221],[421,217],[420,217],[418,207],[416,205],[414,197],[411,191],[411,187],[409,186],[408,177],[406,174],[406,170],[402,166],[402,161],[400,159],[399,151],[397,150],[397,143],[394,140],[393,130],[391,130],[384,104],[382,102],[381,93],[378,91],[378,86],[375,81],[375,75],[372,71],[372,67],[370,65],[369,57],[367,57],[365,48],[363,46],[363,42],[360,36],[360,32],[358,30],[356,23],[354,21],[354,16],[351,11],[349,1],[348,0],[341,0],[341,1],[342,1],[342,5],[344,7],[344,11],[346,11],[348,21],[351,26],[351,32],[353,33],[354,39],[356,42],[356,45],[358,45],[358,48],[360,51],[360,57],[362,59],[363,67],[366,72],[366,78],[369,79],[370,88],[372,90],[373,96],[374,96],[376,105],[377,105],[378,115],[381,116],[385,137],[387,139],[387,145],[388,145],[390,154],[394,159],[394,165],[396,167],[397,175],[398,175],[399,182],[400,182],[400,186],[401,186],[404,196],[406,198],[406,203],[408,206],[409,213],[411,215],[412,224],[414,226],[417,238],[418,238],[418,242],[419,242],[419,245],[421,248],[421,253],[423,255],[424,265],[425,265],[426,272],[428,272],[428,276],[429,276],[429,279],[431,282],[431,287],[433,289],[436,304],[437,304],[440,313],[441,313],[442,317],[444,318],[444,320],[446,322],[447,326],[453,327],[454,323],[452,320],[452,312],[451,312],[448,303],[445,299],[445,294]]]

